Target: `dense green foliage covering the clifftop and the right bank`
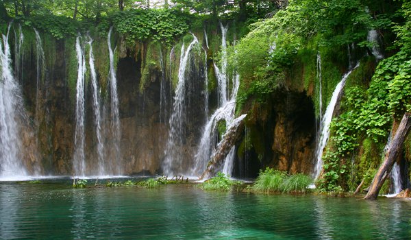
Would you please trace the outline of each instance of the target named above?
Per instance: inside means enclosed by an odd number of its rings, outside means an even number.
[[[319,109],[316,55],[321,54],[323,59],[323,108],[341,75],[352,68],[352,62],[355,65],[360,61],[360,67],[347,82],[341,114],[332,123],[331,141],[323,156],[324,171],[318,185],[321,191],[353,191],[362,180],[371,181],[393,123],[404,112],[411,111],[409,1],[165,0],[153,4],[153,1],[127,0],[1,1],[0,32],[5,33],[6,23],[14,20],[23,28],[35,27],[56,40],[70,38],[66,40],[68,44],[79,32],[102,38],[114,26],[129,49],[144,49],[141,55],[150,59],[145,60],[148,67],[142,68],[142,75],[149,75],[149,69],[158,68],[159,54],[155,52],[158,50],[153,49],[170,48],[190,31],[215,30],[218,21],[235,22],[239,35],[236,37],[242,38],[228,54],[230,70],[241,77],[238,112],[251,111],[250,106],[264,106],[277,88],[301,89],[302,85],[303,91],[312,97],[318,116],[325,109]],[[385,57],[377,63],[372,56],[376,43],[367,39],[372,29],[377,31]],[[148,44],[152,42],[161,47]],[[217,54],[212,53],[208,58]],[[97,66],[100,74],[107,74],[107,62],[101,60],[100,65]],[[262,118],[258,112],[251,114]],[[258,147],[260,139],[247,141],[251,141],[249,146],[255,147],[256,152],[262,152],[262,147]],[[410,143],[408,137],[408,160]],[[282,172],[266,169],[254,188],[258,191],[306,189],[302,185],[284,187],[285,178]],[[208,184],[222,182],[224,189],[230,186],[224,176],[217,176],[216,180]]]

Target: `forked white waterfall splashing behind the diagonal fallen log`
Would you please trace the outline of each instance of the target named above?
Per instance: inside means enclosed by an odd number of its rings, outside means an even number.
[[[199,147],[197,148],[197,153],[195,154],[195,164],[191,170],[192,175],[199,176],[203,171],[206,170],[208,161],[214,154],[214,147],[217,145],[216,139],[218,136],[216,134],[216,125],[221,120],[225,120],[226,126],[233,124],[234,114],[236,109],[236,97],[238,93],[238,88],[240,86],[240,76],[235,74],[233,77],[232,94],[229,101],[227,101],[227,43],[226,34],[228,27],[223,27],[220,23],[222,32],[222,67],[221,71],[214,63],[214,71],[217,76],[218,86],[219,86],[219,108],[212,114],[206,126],[203,128],[203,135],[201,136],[201,141]],[[242,119],[241,119],[242,120]],[[232,167],[234,165],[234,147],[230,150],[232,154],[228,154],[225,158],[225,173],[228,175],[232,174]]]

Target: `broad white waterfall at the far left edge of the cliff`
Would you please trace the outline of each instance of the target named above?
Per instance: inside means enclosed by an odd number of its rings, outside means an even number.
[[[22,143],[18,118],[23,110],[21,89],[18,86],[10,66],[10,45],[7,35],[0,40],[0,178],[27,176],[21,159]]]

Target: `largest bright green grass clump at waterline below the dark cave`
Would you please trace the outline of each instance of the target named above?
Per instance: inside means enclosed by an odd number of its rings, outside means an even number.
[[[267,167],[264,171],[260,171],[251,190],[260,193],[306,193],[309,191],[310,184],[312,178],[302,173],[288,175],[285,171]]]

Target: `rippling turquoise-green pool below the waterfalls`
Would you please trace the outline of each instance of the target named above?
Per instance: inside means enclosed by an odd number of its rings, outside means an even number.
[[[411,201],[0,183],[0,239],[410,239]]]

